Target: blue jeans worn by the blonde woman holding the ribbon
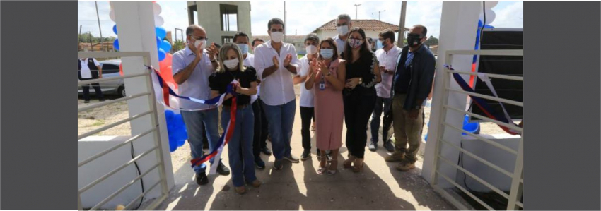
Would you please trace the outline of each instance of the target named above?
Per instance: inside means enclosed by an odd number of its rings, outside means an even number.
[[[230,112],[230,107],[223,107],[223,111],[221,111],[221,127],[224,129],[228,128]],[[252,155],[255,117],[252,114],[250,104],[243,109],[238,108],[235,115],[236,122],[233,135],[230,142],[228,142],[228,156],[232,168],[232,182],[235,187],[240,187],[244,186],[245,180],[247,183],[252,183],[257,179],[255,176],[255,156]]]

